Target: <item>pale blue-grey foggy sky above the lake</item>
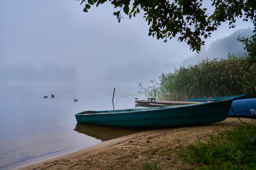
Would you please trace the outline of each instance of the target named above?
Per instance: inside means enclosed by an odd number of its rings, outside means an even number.
[[[121,23],[109,2],[88,13],[76,0],[0,1],[0,81],[74,82],[86,87],[144,85],[172,72],[194,55],[177,39],[148,36],[140,14]],[[142,12],[143,14],[143,12]],[[237,21],[206,40],[206,48],[237,29],[252,27]]]

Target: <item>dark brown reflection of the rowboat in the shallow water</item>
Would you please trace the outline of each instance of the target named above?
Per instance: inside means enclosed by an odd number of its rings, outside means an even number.
[[[110,139],[131,135],[140,131],[136,129],[122,129],[98,125],[88,125],[83,123],[76,123],[76,128],[74,130],[78,133],[83,133],[87,136],[100,139],[101,141],[107,141]]]

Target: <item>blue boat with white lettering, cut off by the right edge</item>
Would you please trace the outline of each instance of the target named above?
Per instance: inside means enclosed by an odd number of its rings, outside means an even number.
[[[256,116],[256,98],[233,101],[228,115]]]

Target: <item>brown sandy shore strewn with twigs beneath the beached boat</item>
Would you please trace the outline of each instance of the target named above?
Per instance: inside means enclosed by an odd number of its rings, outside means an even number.
[[[255,122],[255,119],[240,118],[243,122]],[[191,165],[182,162],[174,152],[181,145],[194,144],[197,136],[207,141],[207,133],[216,133],[242,125],[236,117],[203,126],[169,129],[145,130],[125,137],[102,142],[78,152],[44,160],[20,168],[20,170],[40,169],[142,169],[145,161],[158,162],[161,169],[191,169]]]

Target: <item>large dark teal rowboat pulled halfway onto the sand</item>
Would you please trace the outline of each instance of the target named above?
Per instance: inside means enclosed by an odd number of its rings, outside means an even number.
[[[84,111],[76,121],[124,128],[165,128],[216,123],[228,116],[232,99],[169,107]]]

